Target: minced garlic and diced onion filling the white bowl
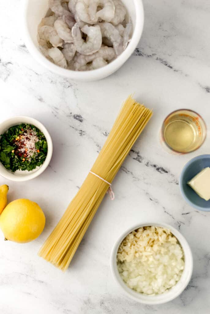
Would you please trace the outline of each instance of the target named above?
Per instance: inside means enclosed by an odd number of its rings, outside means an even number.
[[[184,254],[170,230],[147,226],[124,238],[118,249],[117,265],[129,288],[155,295],[166,292],[180,280]]]

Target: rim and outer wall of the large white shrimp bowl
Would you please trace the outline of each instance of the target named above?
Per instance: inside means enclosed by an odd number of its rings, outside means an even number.
[[[38,47],[36,47],[31,39],[29,34],[28,25],[27,25],[27,10],[29,5],[29,0],[22,0],[22,11],[23,11],[23,33],[24,33],[24,41],[25,44],[34,57],[34,59],[39,62],[42,66],[47,68],[49,71],[54,72],[58,75],[75,79],[81,81],[89,81],[90,77],[91,80],[98,80],[105,78],[115,71],[117,71],[124,62],[128,60],[128,58],[132,55],[133,51],[135,50],[136,46],[138,45],[144,26],[144,8],[142,0],[133,0],[135,6],[135,13],[136,13],[136,21],[134,25],[134,32],[132,38],[129,42],[129,45],[126,49],[119,55],[115,60],[107,64],[106,66],[91,70],[91,71],[72,71],[69,69],[63,69],[59,66],[53,64],[46,57],[39,51]]]

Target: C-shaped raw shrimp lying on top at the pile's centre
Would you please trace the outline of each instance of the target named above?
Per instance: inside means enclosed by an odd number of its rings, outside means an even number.
[[[81,31],[87,34],[87,41],[82,39]],[[85,25],[80,31],[79,25],[76,23],[72,27],[72,36],[76,46],[76,51],[82,55],[91,55],[98,51],[102,44],[101,30],[98,25],[88,26]]]

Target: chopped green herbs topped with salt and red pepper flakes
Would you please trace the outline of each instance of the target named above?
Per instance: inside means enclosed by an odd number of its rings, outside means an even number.
[[[46,156],[46,138],[31,124],[15,125],[1,135],[0,162],[8,170],[31,171],[42,165]]]

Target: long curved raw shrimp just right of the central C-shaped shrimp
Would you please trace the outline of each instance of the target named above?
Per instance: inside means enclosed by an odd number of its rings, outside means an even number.
[[[117,55],[123,52],[123,39],[118,30],[108,22],[98,23],[100,26],[102,37],[108,38],[113,44],[114,50]]]

